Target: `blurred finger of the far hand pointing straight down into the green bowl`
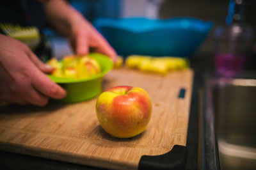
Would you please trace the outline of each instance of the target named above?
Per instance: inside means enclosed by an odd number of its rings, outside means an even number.
[[[84,56],[89,53],[88,37],[80,35],[76,37],[76,54]]]

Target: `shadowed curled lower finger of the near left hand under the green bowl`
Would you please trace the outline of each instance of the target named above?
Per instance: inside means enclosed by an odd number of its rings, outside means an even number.
[[[44,106],[47,104],[49,98],[45,97],[45,95],[43,95],[39,91],[36,91],[35,88],[31,87],[31,89],[29,89],[29,93],[26,94],[25,100],[30,104]]]

